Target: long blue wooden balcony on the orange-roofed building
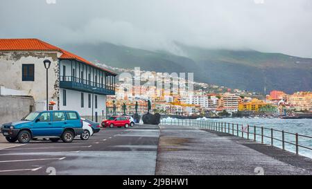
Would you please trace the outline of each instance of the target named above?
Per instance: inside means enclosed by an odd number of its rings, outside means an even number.
[[[82,91],[86,93],[95,93],[98,95],[114,95],[114,84],[107,85],[90,80],[84,80],[73,76],[60,76],[60,88]]]

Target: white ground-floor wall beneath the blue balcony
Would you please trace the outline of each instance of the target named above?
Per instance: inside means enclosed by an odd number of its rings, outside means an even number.
[[[66,90],[67,106],[63,106],[63,90]],[[81,107],[81,91],[73,91],[69,89],[60,89],[60,109],[61,110],[74,110],[78,111],[80,116],[92,116],[92,104],[91,108],[88,107],[88,93],[84,94],[84,107]],[[91,103],[92,103],[92,93]],[[98,96],[98,108],[95,108],[95,96]],[[98,112],[98,116],[102,116],[102,111],[106,111],[106,96],[94,94],[94,115]]]

